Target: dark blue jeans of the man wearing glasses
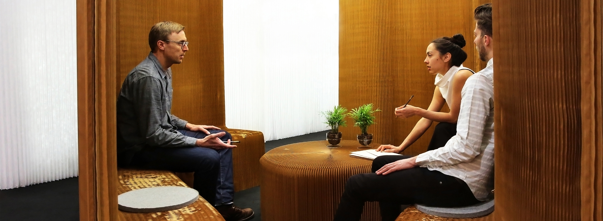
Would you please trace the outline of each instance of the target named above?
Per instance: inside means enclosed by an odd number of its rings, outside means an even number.
[[[183,135],[203,139],[203,132],[179,129]],[[209,129],[212,134],[222,130]],[[226,131],[224,131],[226,132]],[[232,139],[229,132],[221,140]],[[193,188],[214,206],[232,204],[235,185],[232,179],[232,149],[210,148],[145,148],[134,155],[132,166],[171,170],[173,172],[195,172]]]

